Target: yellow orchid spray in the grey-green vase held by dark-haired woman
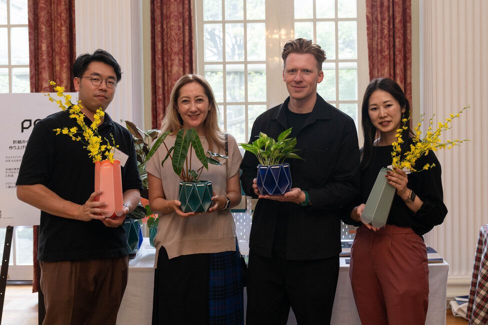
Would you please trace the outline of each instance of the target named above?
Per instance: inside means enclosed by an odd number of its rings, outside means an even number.
[[[415,161],[421,157],[422,155],[426,156],[430,150],[432,151],[437,151],[437,149],[451,149],[453,146],[457,146],[461,144],[462,142],[465,141],[470,141],[467,139],[464,140],[446,140],[445,142],[442,142],[440,139],[440,135],[443,131],[446,131],[451,128],[451,122],[453,119],[458,118],[464,110],[468,109],[470,105],[464,106],[460,111],[458,111],[456,114],[449,114],[449,117],[447,117],[444,121],[444,123],[438,123],[437,128],[435,131],[433,130],[433,117],[429,119],[429,126],[427,129],[427,132],[423,138],[421,138],[421,131],[420,127],[422,126],[423,123],[423,116],[422,114],[420,116],[420,123],[417,124],[417,126],[413,129],[415,134],[412,138],[413,144],[410,144],[410,150],[401,153],[401,148],[400,144],[403,143],[403,139],[401,138],[401,132],[402,130],[406,130],[408,127],[406,126],[406,123],[408,123],[408,119],[404,118],[401,120],[402,127],[400,129],[396,130],[396,142],[392,143],[393,146],[393,151],[391,152],[391,157],[392,157],[392,166],[396,168],[407,168],[411,172],[418,171],[415,169]],[[434,167],[435,164],[425,164],[424,166],[421,167],[420,170],[427,170],[429,168]]]

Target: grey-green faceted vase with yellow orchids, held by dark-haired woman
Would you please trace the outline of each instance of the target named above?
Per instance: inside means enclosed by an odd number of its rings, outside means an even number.
[[[402,119],[403,125],[401,128],[396,130],[396,141],[392,143],[393,151],[391,152],[392,164],[391,166],[382,168],[376,181],[373,184],[371,192],[366,201],[366,205],[361,214],[361,220],[370,224],[375,228],[381,228],[386,224],[388,219],[389,210],[391,208],[391,203],[393,202],[393,197],[395,194],[395,188],[387,183],[387,179],[384,177],[388,170],[393,168],[402,169],[407,174],[410,172],[417,172],[421,170],[426,170],[435,166],[435,164],[425,164],[419,170],[415,168],[415,162],[421,156],[426,156],[430,150],[437,151],[437,149],[451,149],[453,146],[459,145],[462,142],[469,140],[446,140],[442,142],[440,135],[443,131],[450,129],[450,123],[453,119],[457,118],[462,114],[462,112],[469,108],[470,105],[464,106],[456,114],[450,114],[444,121],[444,123],[438,123],[437,128],[433,131],[433,116],[429,119],[429,126],[427,132],[423,138],[420,137],[421,131],[420,127],[423,122],[423,114],[420,117],[420,123],[414,128],[415,135],[413,136],[412,144],[410,144],[410,150],[406,152],[401,152],[401,143],[404,143],[402,139],[402,130],[406,130],[406,123],[409,119]]]

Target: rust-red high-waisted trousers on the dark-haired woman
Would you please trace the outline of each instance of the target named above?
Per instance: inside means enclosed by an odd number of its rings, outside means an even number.
[[[409,227],[362,225],[351,248],[349,277],[362,325],[425,324],[425,244]]]

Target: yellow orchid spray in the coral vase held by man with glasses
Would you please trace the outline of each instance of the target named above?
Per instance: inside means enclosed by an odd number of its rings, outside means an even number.
[[[65,134],[71,137],[73,141],[81,141],[84,144],[83,148],[88,150],[88,156],[93,159],[93,162],[101,161],[103,158],[113,163],[113,149],[114,147],[118,147],[118,145],[115,145],[113,135],[110,135],[112,140],[111,144],[106,138],[103,139],[105,142],[103,144],[101,136],[98,135],[98,125],[101,123],[101,117],[105,113],[100,108],[97,109],[95,114],[93,114],[93,122],[90,125],[86,125],[84,122],[84,114],[81,112],[81,108],[83,108],[81,101],[78,100],[76,104],[71,103],[71,95],[64,94],[63,86],[56,86],[54,81],[49,81],[49,84],[53,87],[56,95],[61,98],[55,100],[47,93],[45,95],[49,101],[55,102],[63,111],[67,109],[69,111],[69,117],[75,119],[81,129],[78,131],[76,126],[69,129],[67,127],[53,129],[56,135]]]

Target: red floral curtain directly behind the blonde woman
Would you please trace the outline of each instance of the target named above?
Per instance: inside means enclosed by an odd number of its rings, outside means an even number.
[[[193,73],[192,0],[151,0],[152,128],[159,128],[176,80]]]

